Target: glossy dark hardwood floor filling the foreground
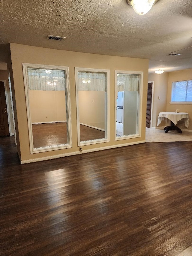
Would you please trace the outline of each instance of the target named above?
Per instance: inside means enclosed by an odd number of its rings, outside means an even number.
[[[19,164],[0,137],[0,255],[192,255],[192,142]]]

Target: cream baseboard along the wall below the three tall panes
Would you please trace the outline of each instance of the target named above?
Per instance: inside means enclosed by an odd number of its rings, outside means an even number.
[[[29,159],[29,160],[22,160],[21,164],[28,164],[28,163],[34,163],[34,162],[39,162],[39,161],[51,160],[51,159],[61,158],[61,157],[70,156],[70,155],[91,153],[91,152],[101,151],[101,150],[105,150],[105,149],[113,149],[113,148],[118,148],[118,147],[131,146],[131,145],[141,144],[141,143],[145,143],[145,142],[146,142],[145,140],[141,140],[141,141],[136,141],[136,142],[118,144],[118,145],[113,145],[113,146],[106,146],[106,147],[95,148],[95,149],[86,149],[86,150],[83,150],[82,152],[74,151],[74,152],[64,153],[64,154],[60,154],[60,155],[52,155],[52,156],[45,156],[45,157],[40,157],[40,158],[33,158],[33,159]]]

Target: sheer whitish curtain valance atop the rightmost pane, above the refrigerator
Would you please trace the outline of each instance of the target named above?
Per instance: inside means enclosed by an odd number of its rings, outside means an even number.
[[[139,75],[119,74],[117,77],[118,92],[135,92],[139,89]]]

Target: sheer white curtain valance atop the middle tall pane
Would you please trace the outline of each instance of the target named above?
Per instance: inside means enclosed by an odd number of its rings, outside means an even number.
[[[106,91],[106,74],[97,72],[78,72],[79,91]]]

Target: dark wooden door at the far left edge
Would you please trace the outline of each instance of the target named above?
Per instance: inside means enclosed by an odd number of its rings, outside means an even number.
[[[0,136],[9,135],[4,82],[0,81]]]

